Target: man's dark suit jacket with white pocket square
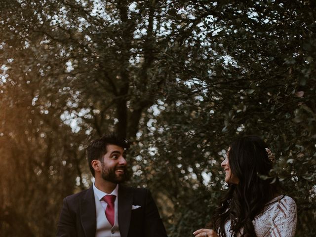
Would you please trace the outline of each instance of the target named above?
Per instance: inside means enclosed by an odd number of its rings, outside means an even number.
[[[132,205],[141,206],[132,210]],[[118,186],[118,227],[121,237],[167,237],[157,206],[147,189]],[[57,237],[95,237],[93,188],[64,198]]]

